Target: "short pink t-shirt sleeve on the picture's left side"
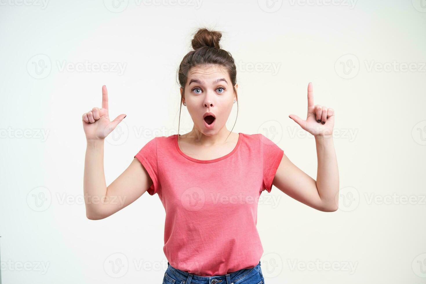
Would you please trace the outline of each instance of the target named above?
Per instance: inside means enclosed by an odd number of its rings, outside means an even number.
[[[147,170],[153,184],[147,190],[150,195],[154,195],[160,186],[158,179],[157,141],[153,138],[135,155]]]

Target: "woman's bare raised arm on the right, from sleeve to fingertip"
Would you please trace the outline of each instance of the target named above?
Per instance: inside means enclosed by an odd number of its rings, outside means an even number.
[[[325,106],[314,106],[312,83],[309,83],[306,120],[302,120],[297,115],[289,115],[289,117],[315,137],[317,181],[283,155],[272,184],[285,194],[312,208],[324,212],[336,211],[339,207],[339,169],[332,136],[334,110]]]

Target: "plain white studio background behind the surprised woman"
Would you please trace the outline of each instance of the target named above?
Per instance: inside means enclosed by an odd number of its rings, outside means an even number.
[[[265,282],[424,283],[422,1],[0,0],[3,283],[161,283],[158,195],[86,218],[81,115],[101,107],[103,84],[110,117],[127,114],[105,142],[108,185],[147,141],[176,134],[176,71],[203,26],[223,32],[236,60],[239,112],[234,104],[228,129],[236,120],[233,132],[268,135],[316,178],[314,138],[288,115],[305,118],[308,82],[314,103],[336,112],[340,209],[264,191],[274,198],[257,221]],[[85,61],[109,69],[72,69]],[[181,134],[192,125],[183,107]],[[117,257],[128,261],[119,273]]]

